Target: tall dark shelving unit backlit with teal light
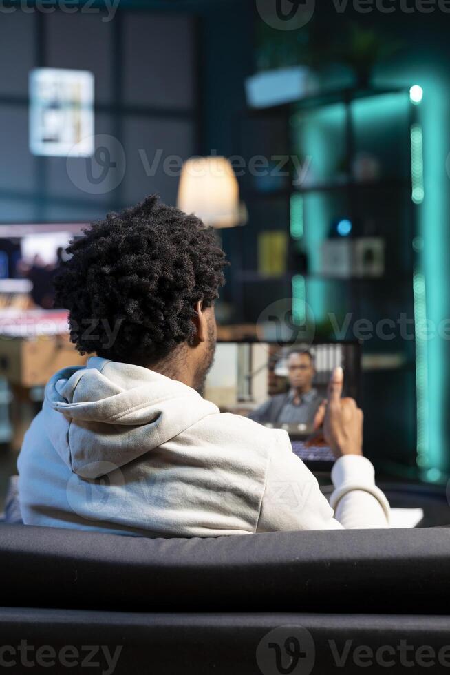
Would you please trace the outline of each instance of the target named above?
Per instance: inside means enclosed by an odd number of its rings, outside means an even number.
[[[239,178],[250,227],[236,229],[228,240],[236,322],[256,321],[270,303],[294,296],[294,277],[303,278],[305,295],[297,302],[310,306],[321,340],[354,338],[354,324],[361,318],[374,326],[384,319],[397,321],[403,313],[414,319],[411,132],[416,110],[409,87],[371,88],[327,92],[240,116],[236,147],[247,167],[255,156],[268,158],[269,167],[276,163],[273,158],[290,160],[285,176],[272,171],[255,177],[246,171]],[[302,163],[306,156],[311,158],[306,180],[295,186],[299,158]],[[356,170],[362,156],[373,158],[378,167],[367,180],[358,178]],[[295,196],[301,199],[300,224],[294,222]],[[321,245],[339,218],[350,220],[358,237],[383,238],[383,276],[323,273]],[[286,269],[277,276],[267,276],[258,267],[257,238],[264,231],[283,231],[288,238]],[[294,231],[296,238],[291,236]],[[306,256],[306,270],[299,269],[299,256],[303,263]],[[329,313],[335,313],[339,323],[352,314],[345,335],[333,334]],[[398,356],[391,367],[371,368],[365,374],[366,449],[374,459],[389,456],[411,468],[416,462],[415,343],[397,333],[393,340],[374,335],[364,344],[367,355],[384,355],[385,360]]]

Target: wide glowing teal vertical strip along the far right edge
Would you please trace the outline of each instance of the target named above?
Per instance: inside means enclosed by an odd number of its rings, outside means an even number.
[[[450,469],[447,432],[449,342],[439,330],[441,322],[449,318],[450,307],[447,282],[450,191],[449,174],[445,171],[449,152],[447,95],[447,76],[444,78],[429,70],[427,90],[420,104],[418,119],[423,129],[425,199],[416,207],[418,235],[423,239],[418,271],[425,276],[427,321],[431,329],[427,340],[428,463],[422,473],[422,477],[429,481],[444,479]]]

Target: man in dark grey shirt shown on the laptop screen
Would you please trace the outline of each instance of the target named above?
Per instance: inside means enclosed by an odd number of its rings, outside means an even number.
[[[321,397],[312,382],[316,371],[309,351],[290,351],[287,393],[272,396],[248,417],[262,424],[313,424]]]

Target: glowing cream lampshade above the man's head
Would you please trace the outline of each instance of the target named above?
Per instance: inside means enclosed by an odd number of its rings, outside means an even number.
[[[217,156],[188,160],[180,178],[178,208],[210,227],[240,225],[239,185],[231,163]]]

